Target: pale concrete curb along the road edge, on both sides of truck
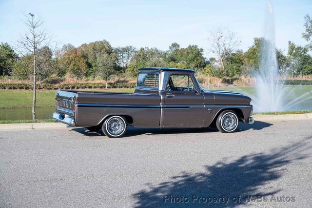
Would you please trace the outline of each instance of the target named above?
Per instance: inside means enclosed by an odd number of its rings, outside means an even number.
[[[290,121],[312,119],[312,113],[285,115],[254,115],[254,121]],[[0,131],[22,129],[57,129],[67,128],[62,123],[30,123],[30,124],[0,124]]]

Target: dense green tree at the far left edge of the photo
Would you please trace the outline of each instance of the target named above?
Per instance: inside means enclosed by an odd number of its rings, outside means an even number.
[[[13,66],[19,56],[8,43],[0,44],[0,76],[12,75]]]

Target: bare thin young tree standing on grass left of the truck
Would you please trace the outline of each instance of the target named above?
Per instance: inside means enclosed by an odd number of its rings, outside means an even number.
[[[16,50],[20,53],[22,57],[31,55],[33,59],[32,63],[32,85],[33,85],[33,105],[32,105],[32,115],[33,120],[36,119],[36,96],[37,88],[36,83],[38,77],[42,77],[46,74],[51,67],[48,66],[44,60],[46,56],[46,48],[49,48],[52,41],[52,36],[47,35],[46,30],[40,30],[44,21],[40,17],[35,17],[34,14],[29,13],[25,15],[25,23],[27,30],[24,34],[20,34],[20,40],[17,43]],[[56,48],[57,44],[55,44]]]

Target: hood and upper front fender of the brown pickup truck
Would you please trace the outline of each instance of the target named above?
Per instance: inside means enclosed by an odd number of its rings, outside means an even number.
[[[250,102],[252,101],[250,97],[237,92],[223,90],[209,90],[208,92],[214,94],[215,98],[214,104],[249,105]]]

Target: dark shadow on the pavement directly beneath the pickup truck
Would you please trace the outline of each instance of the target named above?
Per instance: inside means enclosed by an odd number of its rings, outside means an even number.
[[[255,121],[254,124],[239,124],[238,131],[246,131],[249,129],[261,130],[266,127],[270,127],[272,124],[266,122]],[[104,136],[102,131],[94,132],[86,130],[85,128],[73,128],[74,131],[77,131],[85,136]],[[137,135],[152,135],[152,134],[187,134],[187,133],[202,133],[202,132],[217,132],[216,128],[134,128],[132,126],[128,127],[126,134],[123,137],[133,137]]]

